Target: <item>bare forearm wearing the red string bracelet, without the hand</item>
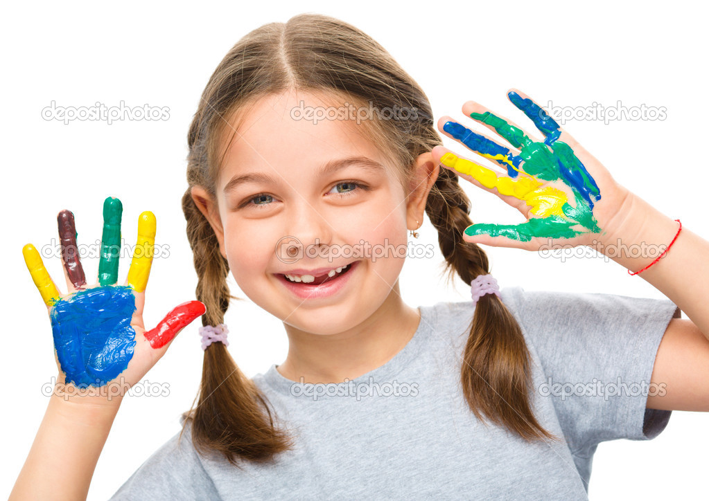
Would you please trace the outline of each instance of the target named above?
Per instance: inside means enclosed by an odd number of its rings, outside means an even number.
[[[632,194],[626,207],[623,207],[623,214],[627,214],[627,217],[621,228],[603,241],[603,253],[631,272],[637,272],[657,258],[661,252],[657,251],[658,246],[669,245],[677,234],[679,224]],[[617,248],[618,239],[623,252]],[[615,248],[611,252],[608,246]],[[643,248],[654,248],[655,252],[643,252]],[[631,255],[637,257],[630,257],[625,249],[630,249]],[[667,253],[635,277],[647,280],[667,296],[709,338],[708,259],[709,242],[691,231],[691,228],[683,226]]]

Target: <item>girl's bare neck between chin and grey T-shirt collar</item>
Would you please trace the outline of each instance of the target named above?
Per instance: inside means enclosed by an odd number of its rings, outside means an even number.
[[[420,313],[406,306],[398,281],[386,301],[367,320],[333,335],[316,335],[284,324],[289,339],[278,372],[291,381],[342,383],[389,362],[413,338]]]

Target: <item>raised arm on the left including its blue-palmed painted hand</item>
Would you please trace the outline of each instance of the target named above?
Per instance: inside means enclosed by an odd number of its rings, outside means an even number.
[[[31,244],[23,248],[48,308],[59,376],[11,499],[85,499],[125,391],[143,379],[182,328],[206,311],[200,301],[187,301],[145,330],[155,216],[140,214],[128,277],[117,287],[118,260],[111,249],[120,247],[121,211],[118,199],[106,199],[99,284],[94,287],[86,285],[71,212],[57,217],[67,294],[58,291],[38,250]]]

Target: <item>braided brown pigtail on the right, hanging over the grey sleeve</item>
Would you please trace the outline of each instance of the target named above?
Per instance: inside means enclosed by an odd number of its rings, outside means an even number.
[[[426,213],[438,231],[449,279],[453,272],[467,284],[489,273],[484,251],[463,240],[472,224],[469,198],[457,175],[441,168],[426,204]],[[476,303],[465,345],[461,384],[465,400],[475,416],[518,434],[527,442],[557,439],[540,424],[530,407],[530,353],[515,317],[495,294]]]

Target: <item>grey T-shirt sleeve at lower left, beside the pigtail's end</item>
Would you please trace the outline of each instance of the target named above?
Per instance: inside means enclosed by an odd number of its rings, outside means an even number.
[[[217,490],[192,446],[189,427],[150,456],[111,500],[217,500]]]

